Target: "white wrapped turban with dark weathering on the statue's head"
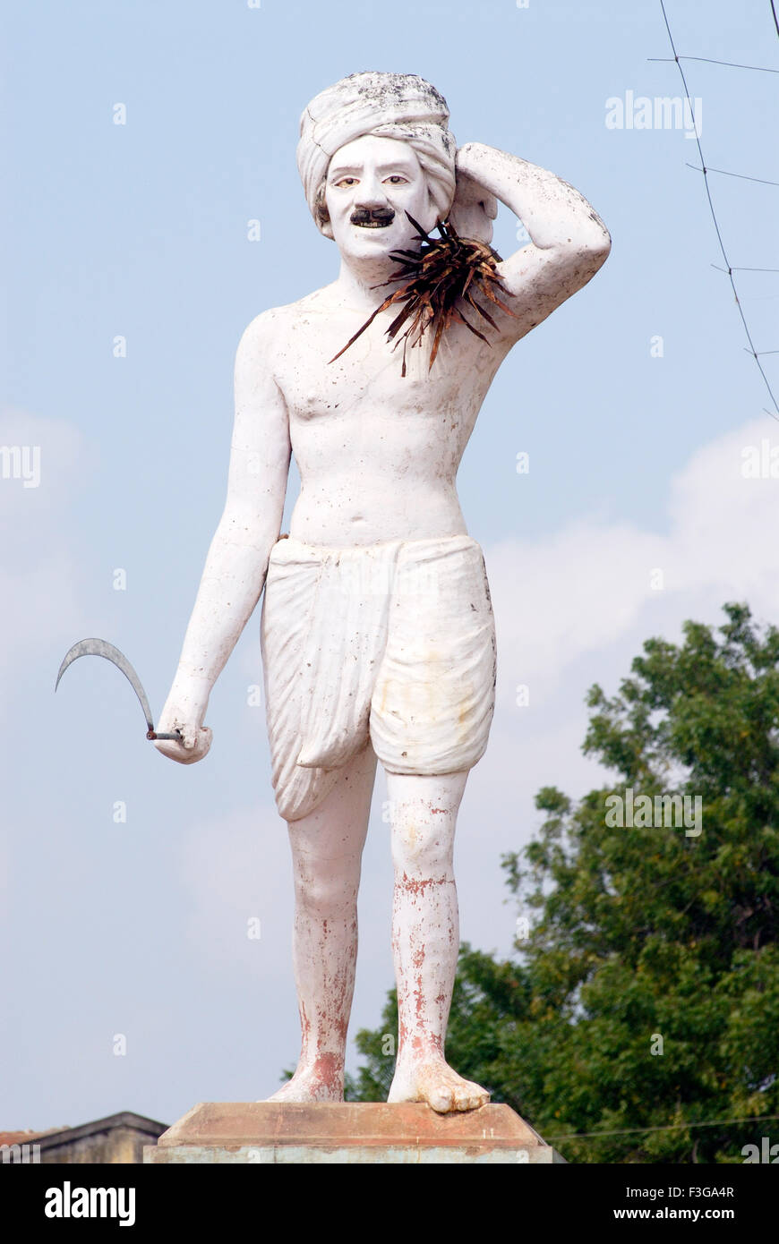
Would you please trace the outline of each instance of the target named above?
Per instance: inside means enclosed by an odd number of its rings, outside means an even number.
[[[444,97],[416,73],[350,73],[315,96],[300,118],[297,169],[320,231],[332,236],[325,208],[330,159],[363,134],[399,138],[413,147],[437,219],[445,219],[454,198],[457,153],[448,119]]]

